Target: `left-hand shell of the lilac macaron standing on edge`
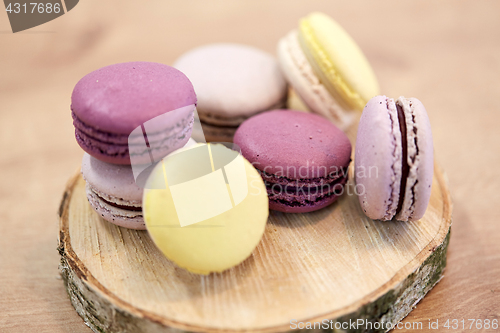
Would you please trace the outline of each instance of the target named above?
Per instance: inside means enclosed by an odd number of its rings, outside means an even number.
[[[399,202],[402,142],[394,100],[376,96],[364,108],[355,149],[356,193],[365,214],[391,220]]]

